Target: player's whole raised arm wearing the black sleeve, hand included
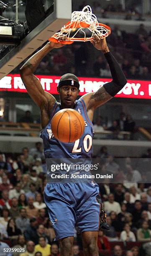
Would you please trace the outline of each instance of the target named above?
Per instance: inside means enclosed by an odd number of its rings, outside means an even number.
[[[97,50],[102,51],[104,54],[109,64],[113,80],[104,84],[102,87],[100,87],[99,90],[97,90],[97,92],[90,92],[82,97],[86,103],[87,111],[94,111],[95,108],[112,99],[125,86],[127,82],[120,65],[108,49],[106,39],[99,39],[97,36],[95,36],[91,43]]]

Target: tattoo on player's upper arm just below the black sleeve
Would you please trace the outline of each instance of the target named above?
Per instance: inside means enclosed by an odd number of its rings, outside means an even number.
[[[104,87],[100,87],[97,92],[95,92],[90,99],[94,99],[97,102],[100,102],[102,105],[103,103],[107,102],[108,100],[112,99],[113,97],[104,89]]]

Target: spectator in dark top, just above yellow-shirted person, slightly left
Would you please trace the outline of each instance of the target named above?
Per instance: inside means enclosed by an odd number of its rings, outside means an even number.
[[[38,243],[38,234],[37,234],[37,221],[36,218],[31,218],[30,224],[24,231],[24,236],[26,241],[33,241],[34,243]]]

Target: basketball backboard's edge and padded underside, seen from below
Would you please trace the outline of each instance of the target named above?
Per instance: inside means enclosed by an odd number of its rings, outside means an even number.
[[[0,60],[0,79],[33,54],[51,36],[71,20],[72,0],[54,0],[54,12],[31,31],[21,43]]]

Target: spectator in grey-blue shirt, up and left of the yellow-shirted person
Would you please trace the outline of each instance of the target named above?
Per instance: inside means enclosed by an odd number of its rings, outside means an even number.
[[[27,218],[27,212],[25,208],[20,209],[20,217],[15,220],[17,228],[20,228],[21,233],[26,230],[28,225],[30,224],[29,218]]]

